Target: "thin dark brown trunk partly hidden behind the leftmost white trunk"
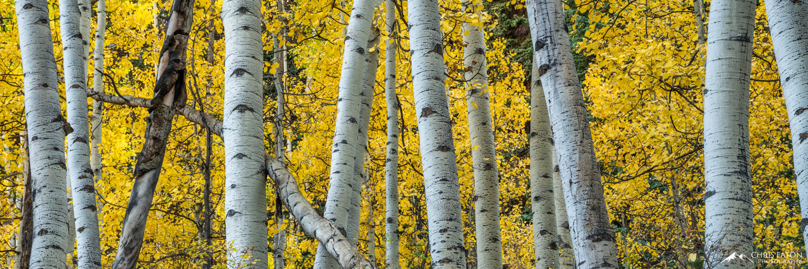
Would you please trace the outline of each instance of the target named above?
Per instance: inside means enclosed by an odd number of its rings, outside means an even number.
[[[27,132],[21,134],[19,140],[23,145],[23,153],[25,159],[30,159],[31,150],[28,148]],[[21,215],[19,217],[19,231],[17,233],[14,269],[27,269],[31,262],[31,242],[33,238],[33,199],[32,199],[32,179],[31,179],[31,163],[23,161],[23,203],[20,207]]]

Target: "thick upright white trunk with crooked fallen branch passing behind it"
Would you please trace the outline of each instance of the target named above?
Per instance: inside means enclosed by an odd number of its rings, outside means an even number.
[[[267,268],[261,2],[225,0],[225,236],[229,268]],[[252,264],[255,263],[255,264]]]

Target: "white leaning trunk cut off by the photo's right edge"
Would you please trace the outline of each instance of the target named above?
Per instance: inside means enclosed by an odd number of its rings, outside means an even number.
[[[794,150],[794,174],[802,209],[802,236],[808,225],[808,4],[805,2],[766,1],[769,32],[772,34],[774,56],[780,72],[785,107],[789,111],[791,139]]]

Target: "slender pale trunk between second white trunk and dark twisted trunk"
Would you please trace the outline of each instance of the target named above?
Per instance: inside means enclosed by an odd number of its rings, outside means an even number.
[[[93,72],[93,90],[103,92],[103,46],[104,46],[104,32],[107,31],[107,2],[106,0],[98,0],[98,22],[95,27],[95,51],[93,52],[93,60],[95,61],[95,70]],[[101,145],[103,143],[103,102],[93,100],[93,116],[90,116],[90,167],[95,176],[95,182],[99,183],[102,179],[103,164],[101,158]],[[98,218],[103,222],[101,214],[103,212],[103,202],[97,201]],[[99,225],[100,227],[100,225]],[[99,229],[99,235],[101,229]]]

